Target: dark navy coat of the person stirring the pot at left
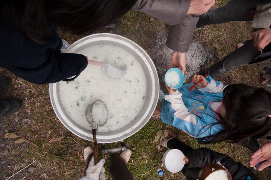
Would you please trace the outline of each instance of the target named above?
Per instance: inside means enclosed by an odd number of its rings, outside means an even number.
[[[36,43],[0,18],[0,66],[35,84],[54,83],[78,76],[87,66],[81,54],[61,53],[55,30],[44,43]]]

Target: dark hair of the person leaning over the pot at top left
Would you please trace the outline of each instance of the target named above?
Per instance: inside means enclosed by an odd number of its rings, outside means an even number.
[[[90,34],[129,11],[137,0],[2,0],[0,12],[36,42],[56,27]],[[1,5],[2,4],[2,5]]]

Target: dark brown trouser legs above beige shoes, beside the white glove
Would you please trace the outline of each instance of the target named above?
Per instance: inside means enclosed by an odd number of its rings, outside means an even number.
[[[94,153],[89,154],[86,160],[84,176],[86,175],[86,169],[88,169],[89,162],[93,156]],[[109,172],[113,180],[134,180],[134,177],[132,173],[129,171],[126,162],[116,154],[111,155]]]

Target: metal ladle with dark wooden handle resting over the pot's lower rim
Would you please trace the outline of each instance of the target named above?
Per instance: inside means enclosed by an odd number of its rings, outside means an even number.
[[[93,107],[97,105],[102,105],[105,107],[105,117],[104,119],[95,119],[93,118]],[[89,104],[88,107],[86,108],[86,119],[91,124],[91,129],[92,129],[92,136],[93,136],[93,151],[94,151],[94,163],[95,165],[98,163],[99,158],[98,158],[98,144],[97,144],[97,138],[96,138],[96,132],[97,132],[97,127],[103,127],[108,120],[108,110],[105,105],[105,103],[98,99],[94,101],[93,103]]]

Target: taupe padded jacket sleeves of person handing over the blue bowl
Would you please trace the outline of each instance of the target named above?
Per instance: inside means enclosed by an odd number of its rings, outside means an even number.
[[[133,9],[170,25],[167,46],[186,52],[193,40],[198,15],[186,15],[190,0],[138,0]]]

